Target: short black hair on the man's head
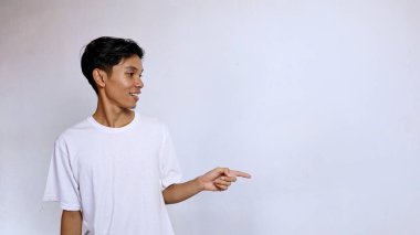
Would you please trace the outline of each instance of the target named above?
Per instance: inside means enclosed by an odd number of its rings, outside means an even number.
[[[101,36],[85,46],[81,58],[82,72],[97,94],[96,83],[92,75],[95,68],[101,68],[109,75],[113,66],[119,64],[122,60],[133,55],[138,55],[143,60],[144,54],[143,49],[130,39]]]

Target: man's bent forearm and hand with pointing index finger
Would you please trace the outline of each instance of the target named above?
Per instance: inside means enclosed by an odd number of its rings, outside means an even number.
[[[224,191],[237,181],[237,178],[248,178],[245,172],[230,170],[229,168],[216,168],[203,175],[185,183],[176,183],[166,188],[162,192],[166,204],[182,202],[202,191]]]

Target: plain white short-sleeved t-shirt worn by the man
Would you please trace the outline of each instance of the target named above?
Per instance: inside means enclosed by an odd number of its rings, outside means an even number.
[[[180,182],[165,125],[135,114],[109,128],[93,117],[55,141],[44,201],[82,211],[86,234],[172,235],[161,191]]]

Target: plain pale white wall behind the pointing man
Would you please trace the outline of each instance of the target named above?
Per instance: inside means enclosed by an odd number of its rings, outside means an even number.
[[[252,173],[170,205],[177,234],[420,234],[416,0],[0,3],[0,234],[57,234],[53,141],[90,116],[102,35],[145,50],[138,110],[170,127],[185,180]]]

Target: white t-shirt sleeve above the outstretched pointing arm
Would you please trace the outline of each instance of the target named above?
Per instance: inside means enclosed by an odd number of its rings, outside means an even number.
[[[162,141],[159,151],[159,170],[162,190],[181,181],[181,170],[175,152],[168,128],[164,126]]]

